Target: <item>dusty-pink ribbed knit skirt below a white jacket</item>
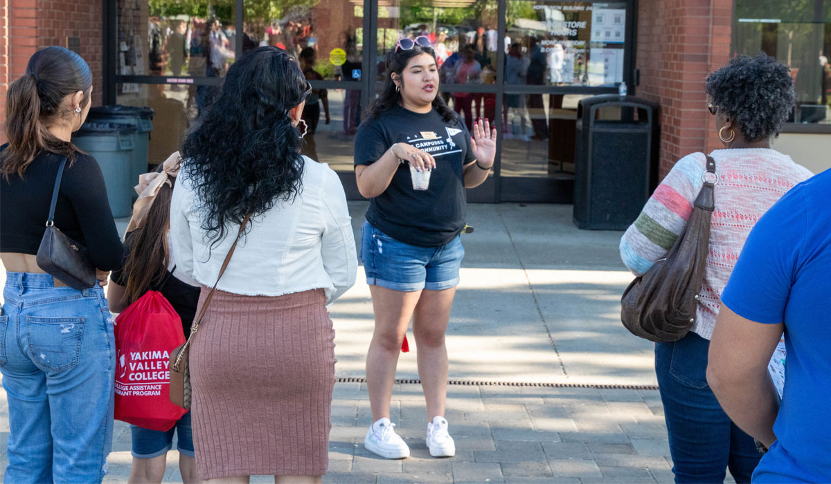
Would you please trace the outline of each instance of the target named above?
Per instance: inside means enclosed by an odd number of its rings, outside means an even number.
[[[326,473],[335,331],[325,302],[319,289],[216,291],[189,361],[200,478]]]

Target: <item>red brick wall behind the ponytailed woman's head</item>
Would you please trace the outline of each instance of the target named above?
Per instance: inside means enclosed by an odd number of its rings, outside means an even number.
[[[101,105],[103,51],[101,0],[0,0],[0,122],[6,117],[10,82],[26,71],[29,57],[46,46],[81,40],[81,57],[92,70],[92,103]],[[5,142],[0,130],[0,143]]]

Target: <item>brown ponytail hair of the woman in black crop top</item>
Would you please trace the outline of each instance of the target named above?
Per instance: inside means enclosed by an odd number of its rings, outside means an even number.
[[[57,139],[49,126],[72,119],[71,106],[64,98],[79,90],[86,107],[92,87],[92,72],[81,56],[64,47],[48,46],[32,54],[26,74],[8,86],[6,95],[6,136],[8,147],[0,154],[0,173],[22,177],[42,151],[62,154],[75,161],[81,153],[74,144]]]

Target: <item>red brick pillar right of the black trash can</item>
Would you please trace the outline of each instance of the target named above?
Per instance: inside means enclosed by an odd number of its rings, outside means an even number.
[[[730,58],[732,0],[642,0],[637,95],[661,105],[661,178],[686,154],[720,146],[704,80]]]

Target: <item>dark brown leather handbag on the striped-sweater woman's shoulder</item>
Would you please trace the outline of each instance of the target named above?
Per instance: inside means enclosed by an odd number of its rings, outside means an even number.
[[[713,188],[718,183],[709,155],[703,185],[689,222],[666,257],[658,260],[623,291],[621,320],[632,335],[656,343],[681,340],[696,323],[698,293],[710,248]],[[712,181],[710,181],[711,178]]]

